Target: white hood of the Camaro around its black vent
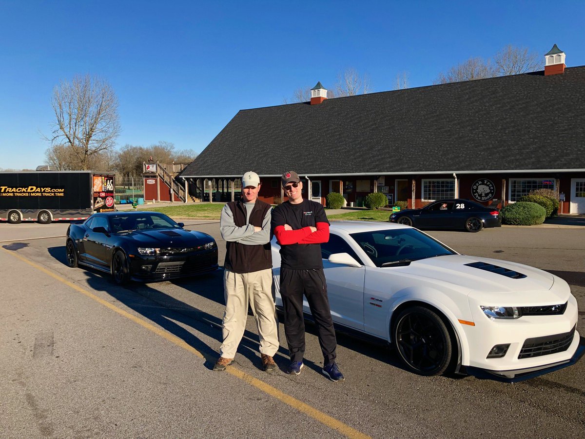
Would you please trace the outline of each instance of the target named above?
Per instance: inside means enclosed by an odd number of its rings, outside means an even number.
[[[484,262],[522,273],[526,277],[514,279],[508,276],[467,266]],[[396,267],[398,269],[398,267]],[[447,255],[417,260],[399,269],[408,275],[426,277],[455,284],[464,290],[477,293],[515,293],[520,291],[548,291],[555,283],[555,276],[543,270],[500,259],[477,258],[465,255]],[[550,294],[550,293],[549,293]]]

